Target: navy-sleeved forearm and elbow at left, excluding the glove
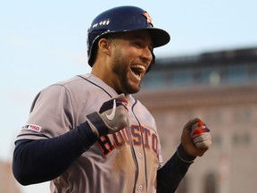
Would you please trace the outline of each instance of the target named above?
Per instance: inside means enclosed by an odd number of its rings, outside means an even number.
[[[22,185],[53,180],[65,172],[96,139],[85,122],[56,138],[17,141],[12,172]]]

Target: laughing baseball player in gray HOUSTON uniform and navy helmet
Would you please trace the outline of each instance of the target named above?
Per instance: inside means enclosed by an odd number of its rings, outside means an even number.
[[[53,193],[174,192],[196,156],[211,145],[199,119],[162,163],[151,113],[132,94],[170,41],[135,6],[99,14],[87,33],[92,71],[42,89],[15,141],[12,171],[22,185],[51,180]]]

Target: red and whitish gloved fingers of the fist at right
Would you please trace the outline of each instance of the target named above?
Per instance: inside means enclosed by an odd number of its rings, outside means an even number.
[[[193,138],[193,142],[198,148],[209,148],[211,147],[211,132],[206,127],[204,122],[199,121],[196,122],[191,127],[191,137]]]

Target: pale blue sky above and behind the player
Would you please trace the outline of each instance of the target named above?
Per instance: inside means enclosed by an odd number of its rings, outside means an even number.
[[[0,2],[0,160],[12,162],[13,142],[37,92],[90,72],[87,28],[95,16],[120,5],[139,6],[170,33],[156,58],[257,46],[255,0],[9,0]],[[48,182],[21,187],[49,192]]]

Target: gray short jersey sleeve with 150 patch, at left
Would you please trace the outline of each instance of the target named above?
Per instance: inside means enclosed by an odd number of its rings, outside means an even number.
[[[69,90],[63,85],[52,85],[35,97],[29,119],[16,141],[60,136],[74,126],[73,117]]]

